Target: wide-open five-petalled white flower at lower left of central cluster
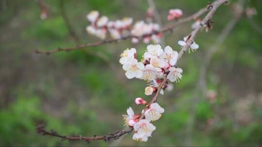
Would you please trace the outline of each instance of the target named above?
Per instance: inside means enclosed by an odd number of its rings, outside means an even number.
[[[138,62],[137,59],[130,59],[128,63],[123,65],[123,70],[127,71],[126,76],[129,79],[133,77],[141,78],[144,68],[145,65],[142,62]]]

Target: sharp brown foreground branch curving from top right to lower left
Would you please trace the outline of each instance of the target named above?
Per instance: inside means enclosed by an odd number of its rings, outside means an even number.
[[[216,9],[223,3],[227,2],[227,0],[216,0],[213,4],[212,4],[212,9],[210,10],[210,12],[206,15],[206,17],[203,19],[202,24],[206,24],[209,20],[211,20],[211,18],[213,17],[214,12],[216,11]],[[201,10],[200,10],[201,11]],[[179,23],[179,22],[177,22]],[[173,25],[174,26],[174,25]],[[203,27],[203,25],[198,26],[193,32],[190,33],[190,38],[188,39],[188,41],[186,42],[186,44],[181,48],[180,52],[179,52],[179,57],[178,60],[183,56],[183,54],[186,52],[186,50],[189,48],[189,46],[194,42],[194,39],[197,35],[197,32]],[[173,29],[172,26],[170,26],[170,29]],[[169,29],[163,29],[164,30],[169,30]],[[100,43],[97,43],[100,44]],[[155,103],[157,101],[158,95],[162,89],[162,87],[166,84],[167,81],[167,76],[164,76],[164,80],[162,81],[162,83],[159,85],[155,95],[152,97],[151,101],[149,104],[147,104],[147,107],[144,110],[148,109],[148,106],[151,103]],[[144,113],[141,115],[141,117],[139,119],[143,119],[145,118],[145,111]],[[54,131],[46,131],[45,126],[44,125],[40,125],[36,128],[37,132],[43,135],[51,135],[51,136],[55,136],[55,137],[59,137],[62,138],[62,140],[86,140],[88,143],[92,140],[104,140],[105,142],[108,142],[110,139],[114,138],[114,139],[118,139],[119,137],[121,137],[122,135],[126,134],[126,133],[131,133],[133,131],[133,128],[130,127],[127,130],[123,130],[123,131],[117,131],[114,133],[111,133],[109,135],[104,135],[104,136],[93,136],[93,137],[82,137],[81,135],[78,136],[66,136],[66,135],[60,135],[57,132]]]

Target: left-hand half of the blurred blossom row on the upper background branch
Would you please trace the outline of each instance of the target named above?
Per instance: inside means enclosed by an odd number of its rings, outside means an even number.
[[[114,39],[119,39],[125,30],[129,31],[133,22],[132,18],[123,18],[122,20],[110,21],[107,16],[99,17],[98,11],[92,11],[87,15],[90,26],[86,27],[86,31],[100,39],[105,39],[107,32]]]

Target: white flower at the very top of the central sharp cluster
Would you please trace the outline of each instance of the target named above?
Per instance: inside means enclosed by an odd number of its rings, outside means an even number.
[[[144,59],[158,57],[162,53],[163,53],[163,49],[161,48],[159,44],[157,45],[150,44],[147,46],[147,52],[145,52],[144,54]]]

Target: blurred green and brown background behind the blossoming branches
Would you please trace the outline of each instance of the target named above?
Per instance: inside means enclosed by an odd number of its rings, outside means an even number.
[[[44,0],[45,20],[36,1],[0,0],[0,146],[262,146],[261,0],[245,0],[245,7],[255,7],[258,14],[251,19],[243,16],[211,59],[207,88],[216,96],[206,96],[196,85],[203,57],[233,17],[226,5],[215,13],[213,29],[197,35],[198,51],[179,61],[183,78],[160,96],[158,103],[165,113],[153,123],[157,130],[152,137],[138,143],[127,134],[89,145],[42,136],[35,127],[45,123],[48,130],[83,136],[123,129],[121,116],[126,109],[131,106],[137,113],[142,109],[134,99],[150,97],[144,94],[146,82],[125,77],[119,55],[135,47],[140,57],[147,44],[128,40],[49,56],[34,50],[76,44],[62,7],[79,44],[84,44],[99,41],[85,31],[90,11],[98,10],[111,20],[124,16],[144,20],[147,0]],[[186,17],[210,0],[154,1],[165,25],[169,9],[180,8]],[[164,34],[165,43],[180,50],[177,42],[191,32],[192,23]]]

